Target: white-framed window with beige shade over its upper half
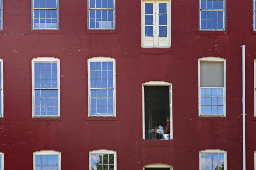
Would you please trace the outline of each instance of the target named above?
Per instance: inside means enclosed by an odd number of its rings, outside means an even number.
[[[219,57],[198,59],[199,116],[226,116],[226,64]]]

